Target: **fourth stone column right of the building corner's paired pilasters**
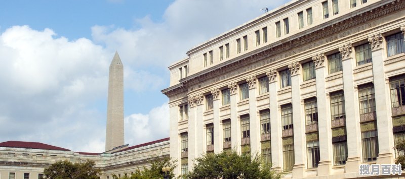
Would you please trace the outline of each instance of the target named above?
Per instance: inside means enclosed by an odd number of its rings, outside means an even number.
[[[279,88],[277,70],[272,69],[266,73],[269,77],[269,108],[270,108],[270,139],[272,168],[282,170],[282,140],[281,140],[281,113],[278,105],[277,90]]]

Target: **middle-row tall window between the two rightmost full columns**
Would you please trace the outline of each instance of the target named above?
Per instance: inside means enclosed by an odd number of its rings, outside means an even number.
[[[358,102],[360,104],[360,114],[376,111],[376,99],[374,87],[368,86],[358,90]]]

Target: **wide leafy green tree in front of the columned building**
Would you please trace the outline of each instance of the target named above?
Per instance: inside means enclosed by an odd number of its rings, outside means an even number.
[[[235,151],[206,154],[196,158],[193,171],[183,178],[281,178],[280,172],[263,163],[260,155],[238,155]]]

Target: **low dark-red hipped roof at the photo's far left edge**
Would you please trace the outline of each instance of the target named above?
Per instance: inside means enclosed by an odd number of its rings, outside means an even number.
[[[2,142],[2,143],[0,143],[0,147],[70,151],[69,149],[56,147],[56,146],[48,145],[48,144],[43,144],[43,143],[39,143],[39,142],[22,142],[22,141]]]

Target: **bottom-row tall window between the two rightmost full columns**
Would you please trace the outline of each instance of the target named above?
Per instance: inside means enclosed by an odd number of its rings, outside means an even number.
[[[361,145],[363,149],[363,162],[376,161],[378,155],[377,130],[362,132]]]

